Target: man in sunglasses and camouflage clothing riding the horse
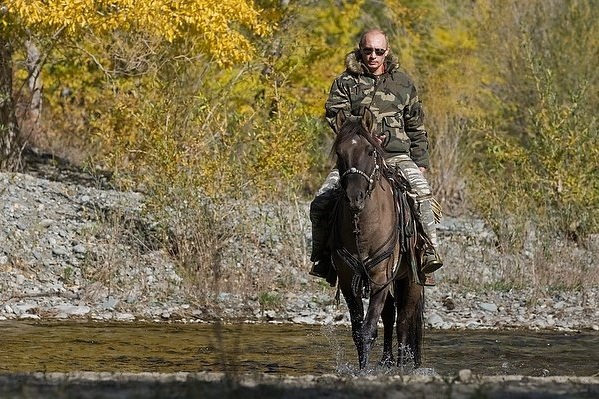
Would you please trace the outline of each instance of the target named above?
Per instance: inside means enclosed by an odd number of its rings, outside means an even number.
[[[432,192],[424,177],[429,167],[428,134],[416,87],[399,70],[387,35],[379,29],[362,34],[358,48],[347,55],[345,67],[331,86],[326,119],[333,127],[338,112],[359,115],[361,107],[368,107],[374,113],[378,139],[388,153],[387,164],[398,168],[416,193],[417,216],[432,244],[425,249],[422,271],[427,274],[426,284],[434,285],[432,273],[443,266],[443,261],[437,250]],[[338,187],[339,173],[333,170],[310,205],[314,262],[310,274],[317,277],[327,278],[331,269],[329,216]]]

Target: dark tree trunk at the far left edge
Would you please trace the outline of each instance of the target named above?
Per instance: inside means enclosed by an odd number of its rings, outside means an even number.
[[[0,30],[0,170],[21,167],[19,126],[12,90],[12,46]]]

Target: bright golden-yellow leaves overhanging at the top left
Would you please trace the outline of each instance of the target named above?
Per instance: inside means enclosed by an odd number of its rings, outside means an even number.
[[[8,0],[6,7],[21,26],[48,35],[143,31],[168,42],[191,35],[197,38],[200,51],[219,65],[252,58],[255,46],[246,29],[264,36],[274,28],[261,18],[253,2],[245,0]]]

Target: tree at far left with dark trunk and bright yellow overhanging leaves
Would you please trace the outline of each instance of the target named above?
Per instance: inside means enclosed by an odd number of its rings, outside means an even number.
[[[13,57],[27,41],[46,41],[52,48],[77,43],[90,33],[102,36],[119,30],[143,32],[166,42],[193,37],[195,53],[217,65],[229,66],[251,59],[255,52],[253,38],[272,29],[262,21],[260,10],[247,0],[8,0],[0,3],[0,18],[1,170],[19,168],[20,152],[26,144],[16,114],[15,99],[21,89],[13,92]],[[28,79],[35,75],[37,81],[40,65],[35,64],[43,60],[42,54],[34,65],[29,65]]]

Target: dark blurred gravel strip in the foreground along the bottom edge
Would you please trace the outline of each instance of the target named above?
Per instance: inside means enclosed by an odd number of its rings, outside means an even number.
[[[468,372],[466,372],[468,371]],[[231,378],[233,377],[233,378]],[[10,398],[596,398],[596,377],[336,375],[280,377],[220,373],[32,373],[0,375],[0,396]]]

